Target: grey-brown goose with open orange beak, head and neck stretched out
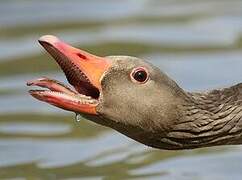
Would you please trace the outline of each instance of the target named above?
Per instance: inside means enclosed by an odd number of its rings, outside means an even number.
[[[136,57],[98,57],[51,35],[41,37],[39,43],[73,86],[48,78],[27,82],[48,89],[29,91],[40,101],[81,114],[154,148],[242,143],[242,83],[191,93]]]

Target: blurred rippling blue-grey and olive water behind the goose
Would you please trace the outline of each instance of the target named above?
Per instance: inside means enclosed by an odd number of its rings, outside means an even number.
[[[242,80],[241,0],[0,1],[0,179],[241,179],[241,146],[151,149],[31,98],[27,80],[66,81],[44,34],[144,58],[189,91],[225,87]]]

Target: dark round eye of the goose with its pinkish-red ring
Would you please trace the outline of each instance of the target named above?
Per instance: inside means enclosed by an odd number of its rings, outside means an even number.
[[[149,80],[149,73],[144,67],[137,67],[130,73],[131,80],[135,83],[144,84]]]

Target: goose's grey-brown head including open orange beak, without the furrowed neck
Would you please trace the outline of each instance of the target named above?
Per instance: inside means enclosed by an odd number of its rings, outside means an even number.
[[[193,106],[195,97],[183,91],[159,68],[136,57],[98,57],[55,36],[43,36],[39,43],[61,67],[72,88],[56,80],[40,78],[27,85],[48,90],[30,90],[33,97],[81,114],[148,146],[200,147],[199,143],[191,145],[188,140],[187,145],[174,140],[185,138],[183,133],[175,136],[175,127],[189,119],[186,108],[188,104]]]

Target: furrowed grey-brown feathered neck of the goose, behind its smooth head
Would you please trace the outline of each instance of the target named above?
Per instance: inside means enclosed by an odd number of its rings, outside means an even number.
[[[173,149],[242,143],[242,83],[208,93],[187,93],[180,113],[163,139]]]

